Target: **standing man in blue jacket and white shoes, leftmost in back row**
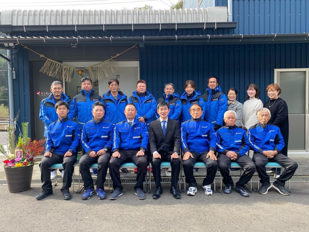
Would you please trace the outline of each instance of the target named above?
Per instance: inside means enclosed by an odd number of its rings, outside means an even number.
[[[63,93],[63,86],[61,81],[53,81],[53,83],[50,85],[50,95],[47,98],[44,98],[41,101],[40,106],[40,119],[42,122],[44,122],[44,137],[47,136],[47,127],[58,120],[58,114],[55,110],[55,105],[58,101],[65,101],[69,104],[69,113],[68,118],[73,119],[75,117],[75,111],[74,111],[74,105],[73,101],[70,100],[69,97],[67,97]],[[61,176],[63,178],[63,170],[61,171]],[[50,170],[50,178],[55,179],[56,178],[56,170]]]

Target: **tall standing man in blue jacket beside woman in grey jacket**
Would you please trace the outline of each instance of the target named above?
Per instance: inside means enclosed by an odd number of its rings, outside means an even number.
[[[227,109],[227,97],[222,92],[217,77],[210,76],[207,79],[207,84],[208,88],[202,95],[205,102],[204,120],[209,122],[217,131],[223,125],[223,115]]]

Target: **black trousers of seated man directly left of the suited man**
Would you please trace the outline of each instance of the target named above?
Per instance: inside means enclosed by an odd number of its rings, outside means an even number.
[[[132,162],[137,166],[137,176],[134,190],[143,189],[143,182],[145,181],[148,166],[147,156],[144,155],[137,157],[136,154],[138,151],[119,151],[119,153],[120,158],[111,157],[111,160],[109,161],[109,172],[112,177],[114,190],[123,190],[119,168],[126,162]]]

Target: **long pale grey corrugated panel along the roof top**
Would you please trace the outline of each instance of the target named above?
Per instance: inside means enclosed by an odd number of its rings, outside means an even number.
[[[85,25],[227,22],[226,7],[184,10],[4,10],[1,25]],[[220,19],[220,20],[219,20]]]

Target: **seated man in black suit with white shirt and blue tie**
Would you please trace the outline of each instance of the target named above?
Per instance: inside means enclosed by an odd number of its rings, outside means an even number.
[[[152,197],[158,199],[162,194],[161,187],[161,161],[171,163],[171,189],[174,198],[180,198],[177,190],[180,172],[180,127],[178,121],[168,118],[170,107],[162,101],[157,105],[160,118],[149,124],[149,146],[152,154],[152,173],[155,178],[156,190]]]

